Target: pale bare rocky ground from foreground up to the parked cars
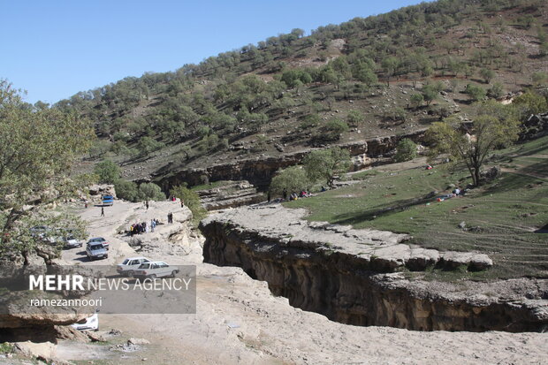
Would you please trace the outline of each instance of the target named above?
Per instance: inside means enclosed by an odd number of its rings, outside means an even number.
[[[102,330],[122,331],[120,340],[146,338],[139,351],[63,342],[57,355],[65,361],[101,364],[542,364],[548,361],[548,334],[506,332],[416,332],[384,327],[356,327],[334,323],[316,313],[289,306],[274,297],[264,282],[255,281],[239,268],[202,263],[202,240],[193,238],[183,221],[186,209],[178,203],[116,202],[105,209],[82,210],[91,236],[110,240],[109,263],[137,255],[116,232],[133,221],[157,217],[174,224],[160,225],[142,235],[154,247],[154,259],[197,266],[195,315],[100,315]],[[174,236],[176,232],[179,232]],[[171,240],[169,238],[171,237]],[[65,251],[63,262],[88,264],[81,249]],[[185,255],[177,254],[185,252]],[[106,261],[104,261],[106,262]],[[97,262],[95,262],[97,263]],[[103,263],[103,262],[101,262]]]

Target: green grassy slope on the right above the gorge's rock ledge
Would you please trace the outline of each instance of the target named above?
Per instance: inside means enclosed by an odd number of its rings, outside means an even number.
[[[393,171],[285,206],[308,209],[309,220],[409,233],[410,243],[442,251],[481,252],[494,262],[491,270],[483,272],[432,270],[430,277],[548,278],[548,234],[535,233],[548,223],[548,175],[537,168],[548,164],[548,137],[497,153],[513,156],[518,169],[444,202],[425,197],[432,191],[449,193],[445,188],[450,184],[466,186],[471,182],[468,171],[440,167]],[[354,198],[340,198],[346,194]],[[465,229],[459,228],[460,222],[465,222]]]

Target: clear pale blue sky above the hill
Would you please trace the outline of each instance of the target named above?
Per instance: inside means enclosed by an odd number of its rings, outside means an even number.
[[[0,79],[47,103],[418,0],[0,0]]]

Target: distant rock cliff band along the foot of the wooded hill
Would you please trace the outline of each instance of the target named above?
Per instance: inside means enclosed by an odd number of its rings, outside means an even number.
[[[415,132],[405,136],[377,137],[370,140],[355,141],[342,144],[340,148],[346,148],[350,156],[355,156],[353,170],[360,170],[370,165],[390,163],[385,155],[390,154],[401,138],[409,138],[413,141],[422,141],[424,131]],[[178,186],[183,182],[190,186],[204,184],[218,180],[247,180],[259,187],[268,186],[270,180],[279,169],[301,163],[312,149],[307,149],[293,154],[282,156],[255,157],[232,163],[220,163],[208,167],[172,171],[170,165],[162,171],[156,172],[154,181],[162,186],[164,191],[169,191],[171,186]]]

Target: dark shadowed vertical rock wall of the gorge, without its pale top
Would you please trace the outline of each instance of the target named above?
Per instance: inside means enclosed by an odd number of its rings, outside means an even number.
[[[230,221],[209,219],[201,230],[204,262],[239,266],[294,307],[341,323],[416,331],[541,331],[548,325],[546,300],[470,296],[452,292],[453,286],[444,293],[390,268],[372,270],[373,261],[356,255],[277,240]]]

